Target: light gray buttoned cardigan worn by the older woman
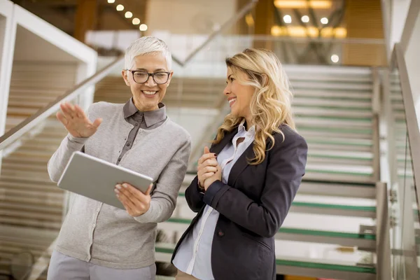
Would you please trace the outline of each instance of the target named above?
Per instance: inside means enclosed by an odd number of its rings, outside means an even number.
[[[71,154],[80,151],[118,162],[135,125],[125,120],[124,104],[99,102],[88,110],[90,120],[103,118],[90,138],[65,137],[48,162],[52,181],[58,181]],[[165,110],[162,106],[159,110]],[[166,116],[166,113],[165,113]],[[146,123],[148,117],[145,115]],[[153,117],[151,119],[154,119]],[[57,239],[56,250],[94,265],[118,269],[147,267],[155,262],[156,223],[166,221],[186,174],[190,135],[169,118],[153,129],[139,127],[130,150],[119,165],[155,179],[150,209],[133,218],[126,211],[76,195]]]

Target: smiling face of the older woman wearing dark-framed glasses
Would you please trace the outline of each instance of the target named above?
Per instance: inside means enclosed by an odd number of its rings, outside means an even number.
[[[150,76],[146,83],[136,83],[132,72],[122,71],[125,84],[133,94],[134,105],[139,111],[153,111],[159,109],[159,103],[165,97],[167,87],[171,82],[172,71],[169,71],[167,61],[162,53],[148,53],[134,57],[134,65],[129,70],[141,70],[148,73],[171,72],[167,83],[158,85]],[[155,77],[158,80],[158,77]]]

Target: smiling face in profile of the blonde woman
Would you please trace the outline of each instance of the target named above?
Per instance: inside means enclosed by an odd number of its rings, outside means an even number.
[[[248,76],[242,71],[232,71],[228,67],[226,75],[226,87],[223,94],[228,97],[230,113],[233,116],[246,118],[246,123],[251,124],[251,100],[255,92],[255,88],[251,85],[241,85],[239,80],[246,81]],[[239,79],[239,80],[238,80]]]

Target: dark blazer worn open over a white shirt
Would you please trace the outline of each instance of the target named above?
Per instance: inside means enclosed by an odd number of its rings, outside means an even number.
[[[280,128],[285,137],[274,134],[274,147],[265,153],[265,160],[248,165],[246,159],[254,158],[253,145],[249,146],[232,167],[228,184],[215,181],[203,195],[195,177],[186,190],[186,200],[198,214],[176,245],[174,255],[208,204],[220,213],[211,247],[215,279],[276,278],[274,235],[288,214],[307,162],[306,141],[290,127]],[[211,153],[220,153],[235,134],[237,129],[212,145]],[[267,140],[267,147],[271,144]]]

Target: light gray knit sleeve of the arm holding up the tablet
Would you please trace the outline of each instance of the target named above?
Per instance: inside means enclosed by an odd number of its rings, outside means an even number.
[[[188,158],[190,158],[191,140],[185,141],[175,153],[167,167],[163,169],[151,196],[148,211],[134,217],[139,223],[161,223],[172,216],[176,206],[179,188],[186,176]]]

